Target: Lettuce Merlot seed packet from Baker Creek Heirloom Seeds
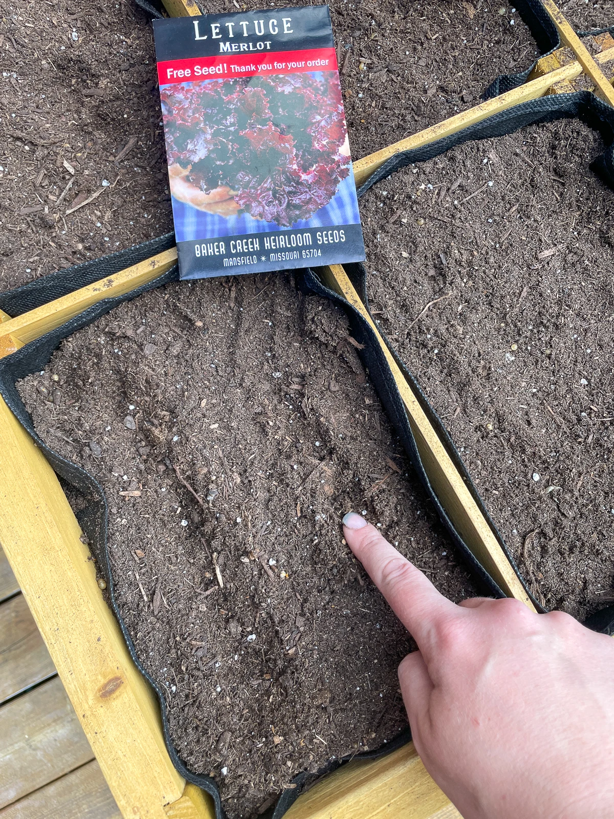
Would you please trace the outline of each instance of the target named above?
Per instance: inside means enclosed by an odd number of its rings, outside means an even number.
[[[181,278],[363,260],[328,7],[154,33]]]

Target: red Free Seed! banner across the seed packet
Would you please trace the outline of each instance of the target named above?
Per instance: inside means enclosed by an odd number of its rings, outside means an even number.
[[[233,43],[234,44],[234,43]],[[243,43],[237,43],[243,45]],[[158,82],[195,82],[199,79],[253,77],[272,74],[295,74],[303,71],[336,71],[334,48],[310,48],[308,51],[192,57],[189,60],[167,60],[158,63]]]

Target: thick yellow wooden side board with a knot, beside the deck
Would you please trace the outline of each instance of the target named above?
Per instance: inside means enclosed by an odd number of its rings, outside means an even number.
[[[102,599],[56,475],[1,399],[0,452],[0,543],[61,681],[124,816],[166,819],[185,783],[166,753],[157,701]],[[194,819],[212,816],[193,808]]]

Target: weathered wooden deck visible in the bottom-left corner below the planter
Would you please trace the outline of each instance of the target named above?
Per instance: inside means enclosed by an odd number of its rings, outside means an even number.
[[[1,548],[0,819],[121,819]]]

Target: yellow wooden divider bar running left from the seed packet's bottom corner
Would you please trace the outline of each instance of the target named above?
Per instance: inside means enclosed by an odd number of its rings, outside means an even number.
[[[29,310],[15,319],[0,324],[0,342],[3,337],[11,337],[9,346],[13,350],[2,351],[0,343],[0,355],[14,351],[16,340],[26,344],[40,338],[44,333],[60,327],[75,315],[79,315],[91,305],[97,304],[102,299],[123,296],[129,290],[140,287],[142,284],[153,281],[161,276],[177,262],[177,248],[172,247],[168,251],[158,253],[151,259],[146,259],[138,265],[133,265],[112,276],[102,278],[99,282],[89,284],[88,287],[81,287],[68,296],[50,301],[46,305],[37,307],[36,310]]]

